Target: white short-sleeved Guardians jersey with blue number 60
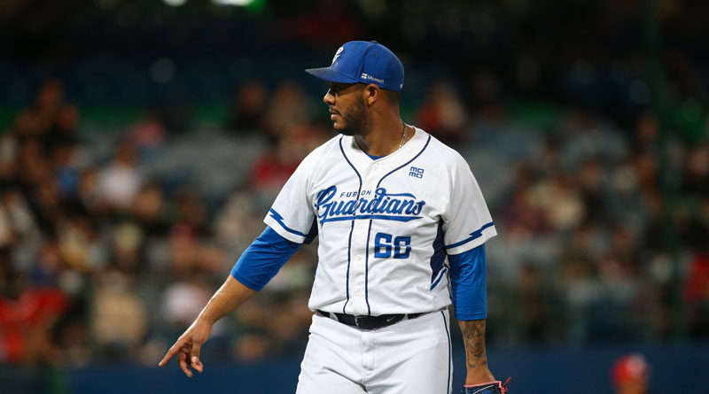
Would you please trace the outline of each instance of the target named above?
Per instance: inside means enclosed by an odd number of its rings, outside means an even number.
[[[264,221],[295,243],[317,231],[308,307],[354,315],[450,305],[446,254],[496,235],[464,158],[419,128],[376,160],[335,136],[300,163]]]

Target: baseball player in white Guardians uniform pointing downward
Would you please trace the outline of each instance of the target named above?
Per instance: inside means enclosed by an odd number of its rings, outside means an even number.
[[[160,361],[202,372],[214,322],[319,237],[314,311],[298,394],[450,393],[448,305],[467,359],[466,392],[506,391],[487,367],[485,246],[495,226],[456,151],[401,120],[401,61],[378,42],[347,42],[323,97],[339,133],[292,174],[230,276]],[[191,368],[190,368],[191,367]]]

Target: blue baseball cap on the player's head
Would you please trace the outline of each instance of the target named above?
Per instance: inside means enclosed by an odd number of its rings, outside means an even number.
[[[400,92],[404,66],[386,46],[376,41],[350,41],[339,47],[332,65],[308,68],[306,73],[339,83],[374,83],[381,89]]]

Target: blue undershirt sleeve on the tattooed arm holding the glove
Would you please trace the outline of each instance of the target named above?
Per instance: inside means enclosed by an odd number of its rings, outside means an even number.
[[[487,273],[485,243],[470,251],[448,255],[450,285],[456,319],[487,319]]]

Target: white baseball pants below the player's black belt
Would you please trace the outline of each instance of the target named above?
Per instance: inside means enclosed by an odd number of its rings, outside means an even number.
[[[296,394],[450,394],[448,310],[362,330],[315,314]]]

